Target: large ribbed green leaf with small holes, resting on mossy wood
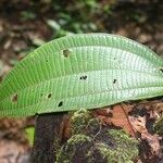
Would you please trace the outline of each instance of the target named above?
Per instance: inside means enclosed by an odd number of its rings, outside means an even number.
[[[93,109],[163,95],[163,60],[121,36],[73,35],[21,61],[0,86],[0,115]]]

